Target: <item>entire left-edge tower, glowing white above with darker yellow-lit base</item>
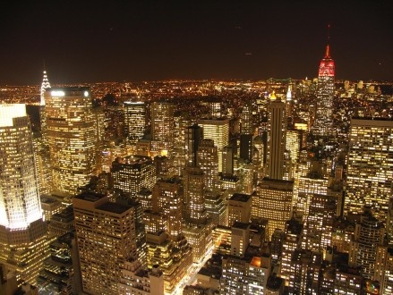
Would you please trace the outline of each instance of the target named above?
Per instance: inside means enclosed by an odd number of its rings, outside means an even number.
[[[0,263],[36,283],[47,257],[30,121],[25,105],[0,105]]]

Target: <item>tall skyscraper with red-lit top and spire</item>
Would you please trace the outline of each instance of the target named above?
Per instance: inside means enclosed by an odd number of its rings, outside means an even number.
[[[317,107],[312,126],[312,133],[317,136],[329,136],[333,132],[334,77],[334,61],[330,57],[328,43],[318,72]]]

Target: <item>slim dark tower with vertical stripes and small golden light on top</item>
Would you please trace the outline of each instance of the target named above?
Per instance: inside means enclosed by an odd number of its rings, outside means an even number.
[[[282,180],[285,171],[286,151],[286,104],[276,97],[270,96],[267,176],[270,179]]]

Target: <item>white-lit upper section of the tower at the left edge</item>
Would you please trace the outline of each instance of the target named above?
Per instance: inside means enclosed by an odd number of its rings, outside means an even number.
[[[0,105],[0,151],[0,225],[24,230],[42,219],[25,105]]]

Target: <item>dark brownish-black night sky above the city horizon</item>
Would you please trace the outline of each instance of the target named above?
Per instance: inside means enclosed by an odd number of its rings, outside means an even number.
[[[7,4],[0,85],[314,78],[328,24],[337,79],[393,80],[391,1],[233,2]]]

